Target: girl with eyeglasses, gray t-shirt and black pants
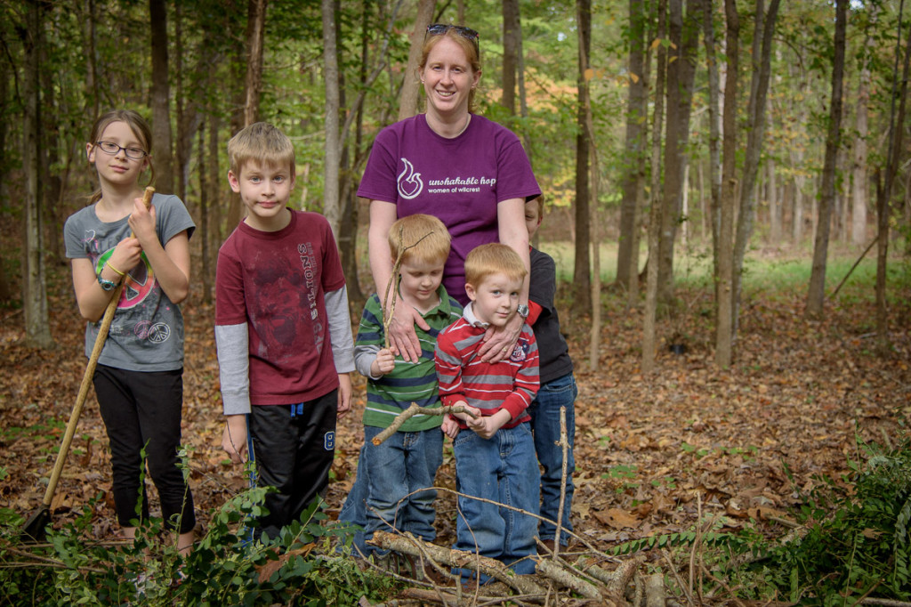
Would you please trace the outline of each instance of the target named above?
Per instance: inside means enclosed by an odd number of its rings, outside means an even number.
[[[97,118],[86,144],[98,190],[64,226],[73,288],[86,324],[86,355],[111,297],[120,291],[93,383],[107,428],[113,493],[123,535],[148,518],[140,488],[143,466],[159,491],[161,513],[178,532],[178,548],[193,543],[196,519],[189,486],[178,467],[183,406],[183,317],[189,293],[189,236],[196,226],[173,195],[155,194],[147,209],[139,184],[154,179],[151,129],[132,110]],[[145,449],[146,461],[141,451]],[[138,501],[141,495],[141,506]]]

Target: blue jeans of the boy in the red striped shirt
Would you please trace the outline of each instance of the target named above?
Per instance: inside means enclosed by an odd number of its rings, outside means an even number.
[[[537,519],[504,504],[537,515],[540,473],[535,443],[528,424],[500,428],[484,439],[462,430],[454,441],[455,483],[460,493],[494,503],[459,496],[455,524],[456,550],[477,550],[501,561],[519,574],[534,573]],[[466,571],[459,571],[468,575]],[[482,580],[483,579],[482,576]]]

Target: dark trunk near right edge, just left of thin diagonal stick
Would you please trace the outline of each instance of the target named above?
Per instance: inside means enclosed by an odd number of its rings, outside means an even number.
[[[848,0],[835,0],[835,41],[832,60],[832,102],[829,104],[829,128],[825,136],[823,185],[819,199],[819,221],[813,247],[813,270],[806,297],[804,315],[811,319],[823,317],[825,302],[825,262],[829,252],[829,231],[832,227],[832,207],[835,198],[835,162],[841,147],[842,83],[844,80],[844,37],[847,29]]]

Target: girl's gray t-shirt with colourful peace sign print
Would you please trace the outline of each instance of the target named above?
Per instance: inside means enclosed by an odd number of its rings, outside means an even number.
[[[155,194],[152,205],[162,245],[181,231],[186,230],[189,237],[196,229],[177,196]],[[114,247],[129,233],[128,217],[109,223],[101,221],[95,214],[95,205],[89,205],[70,215],[64,225],[67,258],[88,259],[97,274]],[[101,320],[86,324],[86,356],[91,355],[100,326]],[[183,367],[183,336],[180,308],[161,290],[142,253],[141,261],[127,273],[98,363],[128,371],[174,371]]]

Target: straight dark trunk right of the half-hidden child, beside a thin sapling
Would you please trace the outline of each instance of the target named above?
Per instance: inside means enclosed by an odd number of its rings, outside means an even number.
[[[577,313],[591,310],[591,245],[589,221],[589,133],[586,109],[589,107],[589,52],[591,48],[591,0],[577,0],[578,16],[578,135],[576,136],[576,266],[573,271],[573,304]]]

